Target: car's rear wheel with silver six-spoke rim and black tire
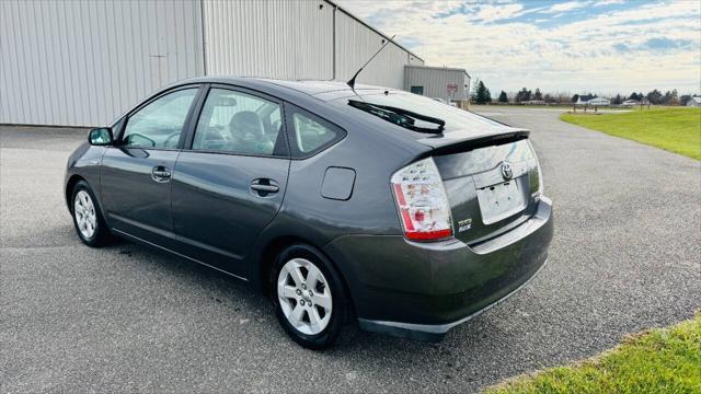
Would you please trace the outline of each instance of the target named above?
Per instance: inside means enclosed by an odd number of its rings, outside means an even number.
[[[325,349],[341,336],[349,311],[346,290],[331,262],[313,247],[296,244],[277,256],[271,293],[277,320],[299,345]]]

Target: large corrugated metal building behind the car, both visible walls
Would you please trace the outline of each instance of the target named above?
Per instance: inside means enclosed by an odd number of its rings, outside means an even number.
[[[0,1],[0,124],[105,125],[203,74],[348,80],[388,39],[327,0]],[[423,63],[390,43],[358,81]]]

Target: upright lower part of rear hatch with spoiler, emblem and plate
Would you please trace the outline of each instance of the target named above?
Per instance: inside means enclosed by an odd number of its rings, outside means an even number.
[[[503,126],[482,135],[452,131],[418,142],[434,148],[430,155],[444,181],[458,240],[479,244],[535,213],[540,175],[528,131]]]

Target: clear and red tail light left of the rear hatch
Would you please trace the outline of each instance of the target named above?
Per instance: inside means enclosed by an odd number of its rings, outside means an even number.
[[[452,236],[450,205],[433,159],[401,169],[391,182],[406,239],[435,241]]]

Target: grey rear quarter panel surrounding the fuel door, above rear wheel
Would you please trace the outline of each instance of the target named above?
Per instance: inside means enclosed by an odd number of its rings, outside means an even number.
[[[383,143],[380,137],[368,137],[369,132],[356,129],[361,125],[345,124],[345,139],[311,158],[291,161],[280,211],[256,240],[251,254],[250,279],[255,288],[261,288],[267,280],[262,274],[271,262],[263,262],[261,257],[275,240],[294,237],[322,250],[345,234],[402,234],[390,177],[422,152]],[[324,176],[330,167],[355,172],[349,198],[322,195]],[[344,279],[352,280],[353,273],[346,267],[336,268]]]

